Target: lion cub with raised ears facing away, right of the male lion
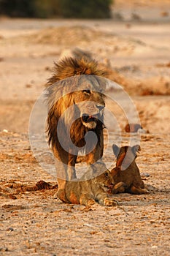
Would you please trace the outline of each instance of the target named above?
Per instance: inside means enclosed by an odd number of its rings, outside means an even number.
[[[136,165],[136,153],[140,151],[140,146],[123,146],[119,148],[112,145],[113,153],[117,157],[116,167],[111,170],[115,186],[112,193],[128,192],[130,194],[146,194],[144,182]]]

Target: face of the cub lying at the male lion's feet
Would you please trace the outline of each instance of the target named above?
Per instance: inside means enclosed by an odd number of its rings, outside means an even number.
[[[114,179],[112,178],[111,173],[109,170],[106,170],[104,173],[101,173],[101,175],[94,178],[95,183],[97,186],[104,189],[104,191],[109,191],[109,189],[112,189],[113,185],[115,184]]]

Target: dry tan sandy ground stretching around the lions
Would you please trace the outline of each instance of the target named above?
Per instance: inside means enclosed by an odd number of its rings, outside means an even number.
[[[118,1],[114,20],[1,18],[0,255],[170,254],[169,1],[155,1],[154,8],[132,2],[122,9]],[[138,136],[136,162],[150,194],[115,195],[115,207],[54,199],[55,178],[34,158],[28,123],[53,61],[75,47],[89,50],[131,96],[148,132]],[[125,116],[110,108],[123,131]],[[111,135],[112,143],[121,135],[125,145],[137,136],[114,129]],[[40,149],[40,158],[53,164],[47,152]],[[114,162],[112,151],[106,155]]]

